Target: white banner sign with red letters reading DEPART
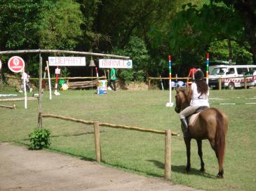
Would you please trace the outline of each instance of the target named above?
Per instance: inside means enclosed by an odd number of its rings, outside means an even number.
[[[86,66],[86,57],[48,57],[49,66]]]

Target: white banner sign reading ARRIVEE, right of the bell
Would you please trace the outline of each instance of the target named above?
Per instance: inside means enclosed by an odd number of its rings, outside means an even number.
[[[131,59],[99,59],[99,67],[107,69],[132,69]]]

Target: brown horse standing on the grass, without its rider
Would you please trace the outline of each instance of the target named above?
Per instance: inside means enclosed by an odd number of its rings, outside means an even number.
[[[191,98],[187,96],[186,90],[184,88],[176,88],[175,95],[175,111],[180,113],[184,108],[189,106]],[[227,129],[229,126],[229,120],[227,115],[217,108],[206,108],[205,110],[198,113],[198,117],[194,119],[193,124],[189,124],[189,132],[191,134],[190,138],[184,138],[184,142],[187,148],[187,167],[186,171],[190,171],[190,142],[191,139],[196,139],[198,146],[198,155],[201,160],[200,171],[204,172],[204,162],[203,162],[203,152],[202,152],[202,140],[208,139],[210,141],[210,146],[215,151],[217,161],[219,164],[219,172],[217,178],[223,178],[224,169],[224,153],[226,144]],[[182,132],[184,134],[184,127],[182,127]]]

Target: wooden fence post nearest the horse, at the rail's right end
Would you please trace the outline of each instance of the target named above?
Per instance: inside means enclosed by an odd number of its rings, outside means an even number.
[[[170,180],[170,171],[171,171],[171,150],[170,150],[170,144],[171,144],[171,137],[172,134],[170,130],[166,130],[166,137],[165,137],[165,164],[164,164],[164,177],[168,180]]]

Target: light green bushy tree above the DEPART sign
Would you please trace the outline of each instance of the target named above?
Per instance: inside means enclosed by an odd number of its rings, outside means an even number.
[[[83,15],[79,3],[57,0],[43,10],[39,24],[39,48],[74,50],[81,40]]]

